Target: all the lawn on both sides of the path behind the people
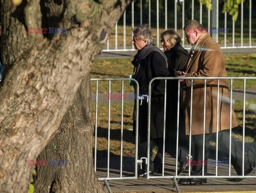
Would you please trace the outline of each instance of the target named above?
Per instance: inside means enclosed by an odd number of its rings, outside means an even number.
[[[230,77],[255,77],[256,54],[226,54],[226,69]],[[133,71],[129,59],[97,60],[93,64],[91,78],[127,78]],[[243,80],[233,83],[233,89],[243,89]],[[256,82],[247,81],[246,89],[256,89]],[[133,93],[133,87],[128,82],[124,84],[125,93]],[[95,81],[92,82],[92,92],[95,93]],[[108,93],[108,81],[99,82],[99,93]],[[121,93],[121,81],[111,82],[111,93]],[[233,131],[235,139],[242,140],[243,100],[234,101],[239,128]],[[93,119],[95,119],[95,104],[92,104]],[[256,136],[256,98],[246,99],[245,109],[245,141],[251,142]],[[121,103],[111,103],[110,116],[110,153],[121,153]],[[124,103],[123,116],[123,155],[134,156],[135,139],[132,135],[133,103]],[[95,120],[94,120],[95,122]],[[98,154],[107,155],[108,139],[108,104],[98,104]]]

